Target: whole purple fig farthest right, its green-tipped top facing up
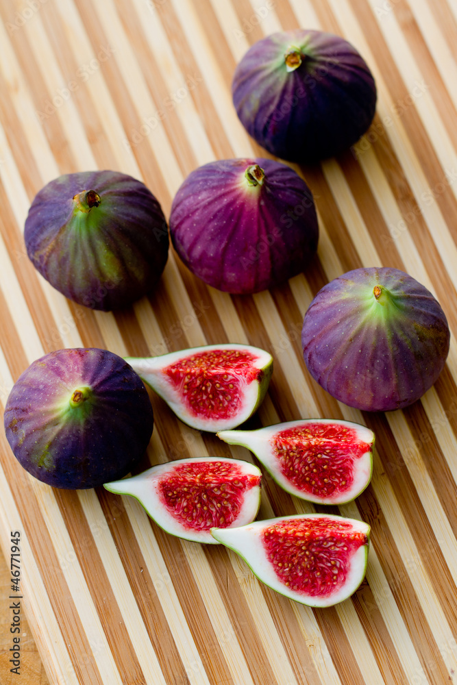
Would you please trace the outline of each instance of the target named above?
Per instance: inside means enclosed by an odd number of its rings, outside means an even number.
[[[341,402],[368,412],[401,409],[436,381],[449,327],[432,293],[386,267],[355,269],[328,283],[305,314],[308,371]]]

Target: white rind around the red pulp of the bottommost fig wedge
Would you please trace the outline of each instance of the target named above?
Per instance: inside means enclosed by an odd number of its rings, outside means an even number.
[[[267,551],[262,544],[262,532],[271,527],[274,523],[291,519],[336,519],[337,521],[347,521],[353,525],[354,532],[361,532],[367,536],[367,543],[361,545],[349,560],[345,584],[327,597],[315,597],[299,593],[288,588],[276,575],[271,562],[268,559]],[[265,585],[275,592],[293,599],[301,604],[312,607],[334,606],[344,601],[355,593],[358,586],[365,577],[368,561],[369,534],[370,527],[363,521],[356,519],[343,519],[342,516],[333,514],[295,514],[293,516],[279,516],[276,519],[267,521],[254,521],[243,527],[232,528],[212,528],[211,533],[226,547],[230,547],[240,555],[252,573]],[[350,532],[349,532],[350,533]]]

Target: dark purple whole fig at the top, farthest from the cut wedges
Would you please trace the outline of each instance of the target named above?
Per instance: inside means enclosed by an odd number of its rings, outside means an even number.
[[[254,43],[236,67],[232,95],[254,140],[291,162],[317,162],[354,144],[376,107],[373,75],[340,36],[295,29]]]

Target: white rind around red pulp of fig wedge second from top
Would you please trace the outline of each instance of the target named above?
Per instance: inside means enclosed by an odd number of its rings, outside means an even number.
[[[351,484],[350,488],[347,488],[347,490],[340,490],[329,497],[319,497],[312,495],[312,493],[306,493],[303,490],[300,490],[293,485],[282,473],[279,461],[277,460],[275,451],[271,445],[271,440],[280,431],[304,426],[307,423],[329,423],[354,429],[359,440],[371,445],[371,451],[365,452],[356,460],[354,469],[354,482]],[[299,499],[305,499],[309,502],[328,505],[346,504],[347,502],[356,499],[356,497],[358,497],[358,495],[365,490],[371,480],[371,473],[373,471],[373,445],[375,436],[373,431],[358,423],[352,423],[351,421],[339,421],[336,419],[300,419],[299,421],[277,423],[275,425],[259,428],[256,430],[219,431],[217,435],[219,438],[221,438],[221,440],[224,440],[225,443],[229,443],[230,445],[242,445],[243,447],[250,449],[278,485],[280,485],[291,495],[295,495],[295,497],[299,497]]]

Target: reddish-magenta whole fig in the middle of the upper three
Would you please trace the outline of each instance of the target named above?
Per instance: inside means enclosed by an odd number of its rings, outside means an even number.
[[[184,180],[171,207],[178,255],[201,280],[225,292],[258,292],[301,273],[318,235],[310,189],[273,160],[204,164]]]

